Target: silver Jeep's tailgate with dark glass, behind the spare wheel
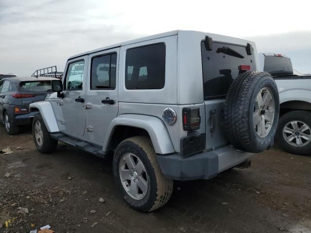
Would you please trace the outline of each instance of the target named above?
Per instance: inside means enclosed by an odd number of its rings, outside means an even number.
[[[201,43],[203,89],[206,113],[206,149],[213,150],[229,142],[222,126],[222,108],[228,89],[234,79],[242,72],[239,66],[248,65],[255,70],[254,52],[246,53],[246,45],[213,42],[212,50]]]

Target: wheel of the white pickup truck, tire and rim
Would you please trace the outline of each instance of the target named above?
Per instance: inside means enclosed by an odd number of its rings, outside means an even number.
[[[311,154],[311,113],[293,111],[280,117],[276,130],[276,141],[290,153]]]

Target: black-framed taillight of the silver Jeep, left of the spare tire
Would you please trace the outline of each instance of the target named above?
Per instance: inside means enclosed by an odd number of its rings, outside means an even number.
[[[183,128],[186,131],[200,128],[201,117],[199,108],[183,108]]]

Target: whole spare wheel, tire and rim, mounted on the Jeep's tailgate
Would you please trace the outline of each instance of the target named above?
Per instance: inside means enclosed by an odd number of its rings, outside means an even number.
[[[273,143],[279,116],[276,82],[267,72],[247,71],[230,85],[224,130],[238,150],[258,153]]]

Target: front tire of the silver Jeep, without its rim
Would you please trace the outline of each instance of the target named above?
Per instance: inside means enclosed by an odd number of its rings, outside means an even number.
[[[42,129],[43,140],[42,140],[42,145],[41,146],[38,145],[38,143],[37,143],[37,141],[35,139],[35,123],[37,121],[40,122],[41,129]],[[32,129],[33,129],[33,137],[34,137],[35,147],[37,148],[37,150],[40,153],[51,153],[51,152],[56,150],[58,141],[53,139],[50,136],[50,133],[48,132],[47,127],[45,126],[45,123],[44,123],[40,113],[37,113],[34,116]]]

